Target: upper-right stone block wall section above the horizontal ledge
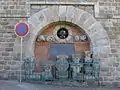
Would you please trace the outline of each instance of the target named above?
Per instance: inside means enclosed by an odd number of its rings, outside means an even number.
[[[100,0],[100,18],[120,18],[120,0]]]

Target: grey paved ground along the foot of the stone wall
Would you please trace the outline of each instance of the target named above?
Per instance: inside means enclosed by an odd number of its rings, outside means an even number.
[[[52,86],[52,85],[42,85],[42,84],[30,84],[22,83],[20,84],[17,81],[4,81],[0,80],[0,90],[120,90],[113,88],[78,88],[78,87],[61,87],[61,86]]]

